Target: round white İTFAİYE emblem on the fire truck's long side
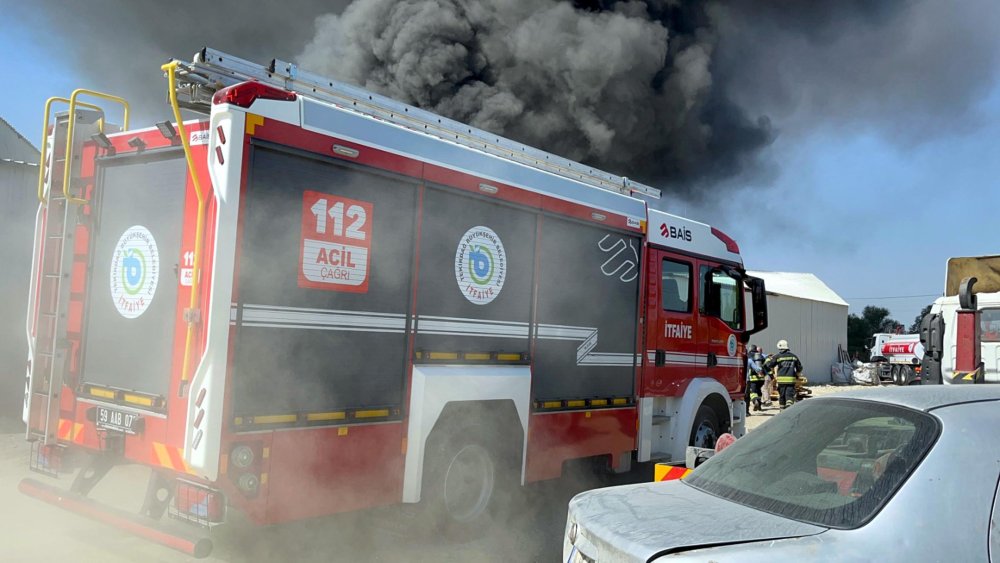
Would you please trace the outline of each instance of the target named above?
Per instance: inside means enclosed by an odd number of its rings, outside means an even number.
[[[507,279],[507,253],[489,227],[472,227],[455,251],[455,280],[470,302],[486,305],[496,299]]]

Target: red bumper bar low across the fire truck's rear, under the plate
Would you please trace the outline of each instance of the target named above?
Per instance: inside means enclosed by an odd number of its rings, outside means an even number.
[[[212,540],[193,531],[182,528],[174,529],[173,526],[164,525],[146,516],[119,510],[34,479],[22,479],[17,488],[28,496],[110,524],[192,557],[201,559],[212,553]]]

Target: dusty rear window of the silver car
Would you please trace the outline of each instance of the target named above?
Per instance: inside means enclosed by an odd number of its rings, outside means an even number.
[[[933,417],[852,399],[796,404],[684,482],[739,504],[831,528],[878,513],[939,433]]]

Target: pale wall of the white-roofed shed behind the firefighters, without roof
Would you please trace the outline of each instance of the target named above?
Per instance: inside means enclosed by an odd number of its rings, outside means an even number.
[[[785,295],[767,296],[768,328],[751,344],[777,352],[778,340],[788,341],[802,360],[803,373],[814,383],[829,383],[837,361],[837,345],[847,348],[847,307]]]

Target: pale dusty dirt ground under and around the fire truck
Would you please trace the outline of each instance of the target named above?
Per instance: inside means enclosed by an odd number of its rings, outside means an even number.
[[[813,396],[855,386],[815,386]],[[806,399],[808,400],[808,399]],[[754,429],[779,413],[777,402],[748,419]],[[28,470],[28,445],[17,431],[20,422],[0,421],[0,526],[3,560],[81,562],[178,562],[190,557],[147,540],[52,507],[17,490],[21,479],[68,488],[70,477],[58,480]],[[138,512],[147,471],[124,466],[112,470],[91,493],[97,500]],[[598,481],[585,468],[570,468],[561,480],[523,490],[518,508],[495,525],[500,533],[487,539],[454,543],[411,533],[420,513],[414,507],[393,506],[373,511],[319,518],[307,522],[255,528],[229,526],[213,535],[215,550],[204,561],[554,561],[560,557],[566,505],[576,493],[600,485],[652,480],[652,465],[629,475]]]

